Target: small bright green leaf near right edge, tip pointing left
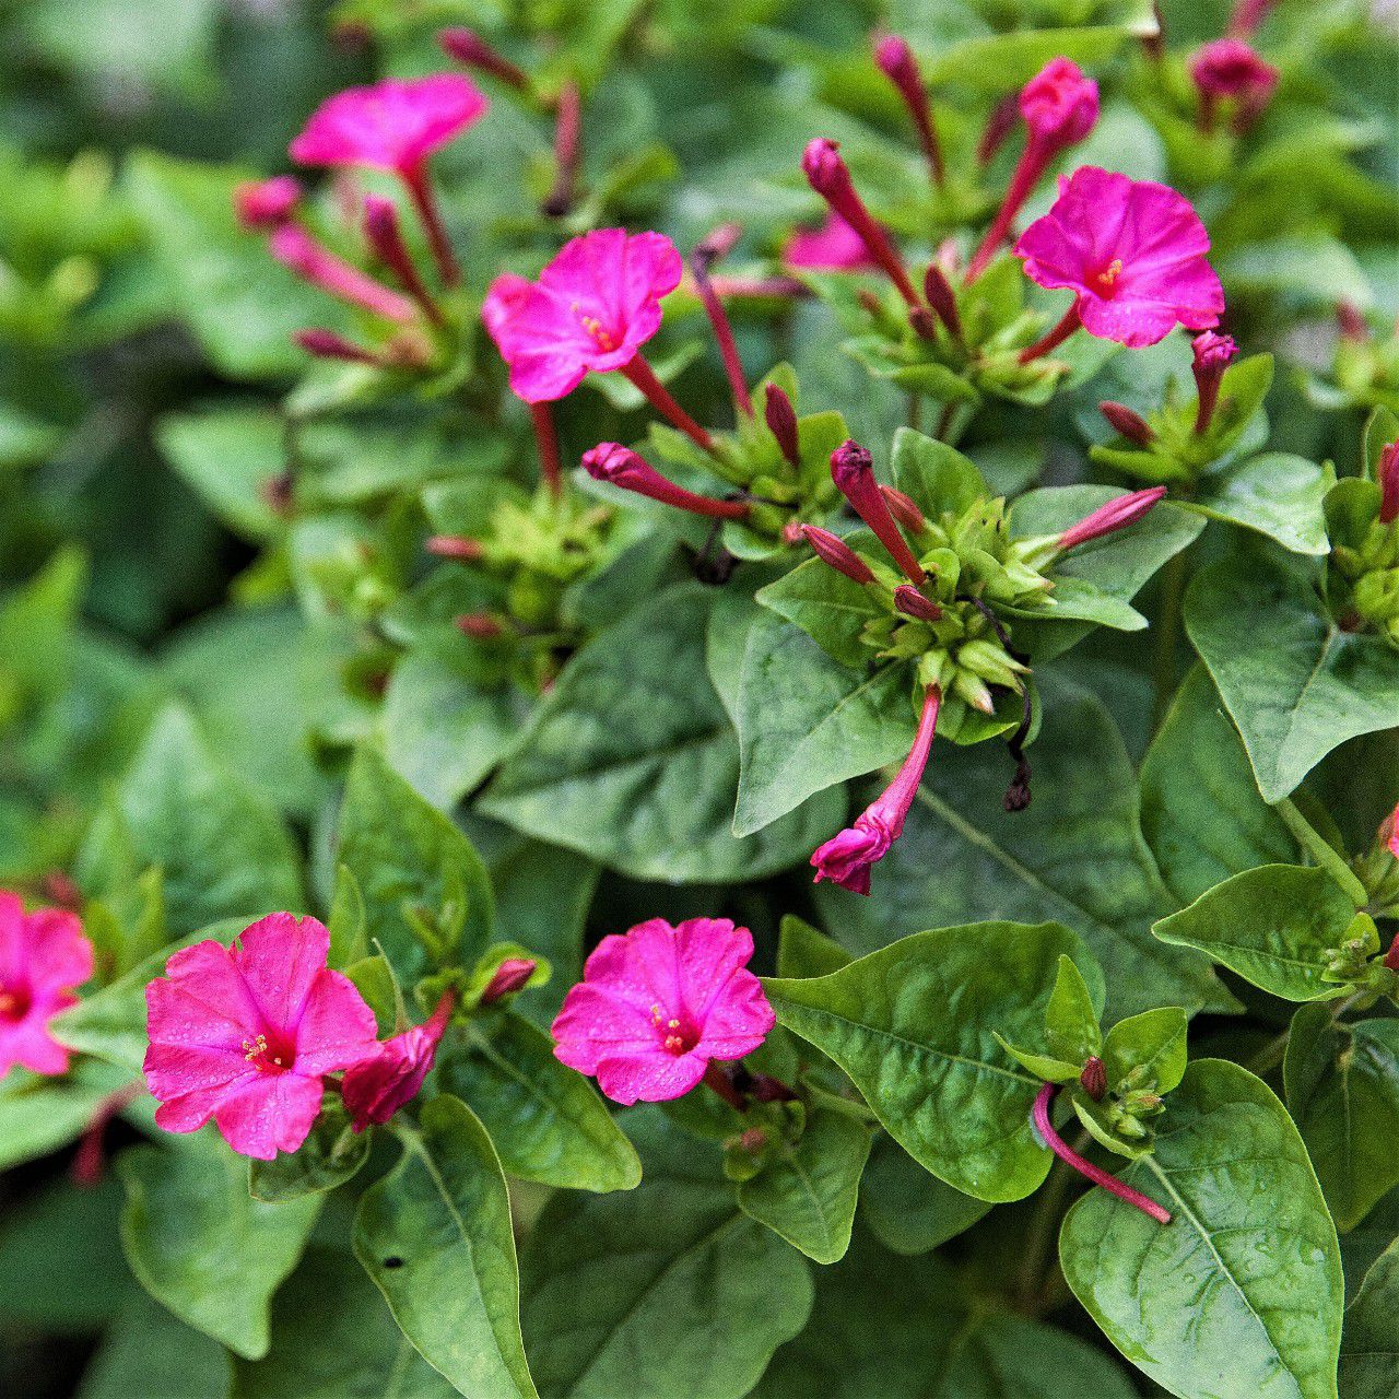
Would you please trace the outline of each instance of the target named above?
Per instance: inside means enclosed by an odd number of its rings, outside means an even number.
[[[1202,894],[1151,929],[1164,943],[1198,947],[1245,981],[1286,1000],[1319,1000],[1342,988],[1323,981],[1356,905],[1322,869],[1263,865]]]

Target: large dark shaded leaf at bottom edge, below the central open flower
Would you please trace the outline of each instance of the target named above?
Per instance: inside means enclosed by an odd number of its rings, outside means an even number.
[[[550,1399],[741,1399],[811,1309],[806,1260],[750,1220],[716,1146],[630,1111],[642,1184],[558,1195],[525,1251],[525,1335]]]

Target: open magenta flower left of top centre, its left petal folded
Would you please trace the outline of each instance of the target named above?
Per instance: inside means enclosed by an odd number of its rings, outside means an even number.
[[[511,388],[546,403],[589,372],[628,367],[660,329],[660,298],[683,271],[663,234],[602,228],[564,243],[536,283],[498,277],[481,319],[511,367]]]

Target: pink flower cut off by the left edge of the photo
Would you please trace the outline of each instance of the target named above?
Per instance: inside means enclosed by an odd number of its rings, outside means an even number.
[[[77,1004],[73,988],[92,975],[92,944],[74,914],[24,911],[18,895],[0,893],[0,1079],[15,1066],[63,1073],[69,1051],[49,1021]]]

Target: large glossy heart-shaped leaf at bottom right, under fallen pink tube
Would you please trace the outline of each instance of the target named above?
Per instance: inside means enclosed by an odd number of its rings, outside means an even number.
[[[1336,1231],[1297,1129],[1267,1086],[1202,1059],[1122,1179],[1170,1224],[1090,1191],[1059,1240],[1065,1277],[1108,1339],[1174,1395],[1335,1399]]]

